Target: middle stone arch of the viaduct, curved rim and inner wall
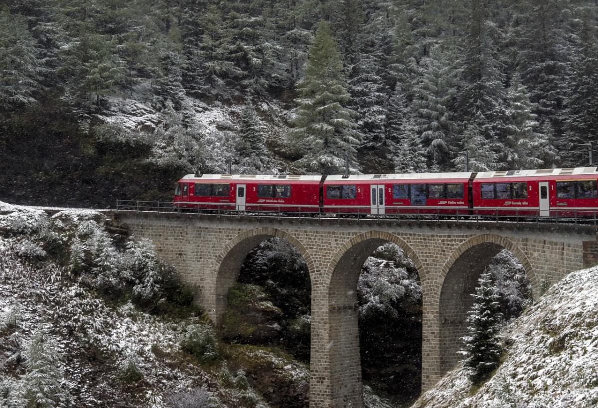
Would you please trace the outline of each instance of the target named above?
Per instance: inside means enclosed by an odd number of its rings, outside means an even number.
[[[356,288],[365,260],[374,249],[386,242],[399,246],[410,257],[420,280],[425,271],[416,252],[398,236],[382,231],[369,231],[353,236],[344,243],[328,264],[328,332],[330,383],[333,407],[362,405],[361,357]],[[312,347],[314,345],[312,344]]]

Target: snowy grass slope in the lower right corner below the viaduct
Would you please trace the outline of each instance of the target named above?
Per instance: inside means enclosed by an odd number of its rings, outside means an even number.
[[[490,380],[472,388],[457,367],[412,408],[598,406],[598,267],[551,287],[503,335],[507,351]]]

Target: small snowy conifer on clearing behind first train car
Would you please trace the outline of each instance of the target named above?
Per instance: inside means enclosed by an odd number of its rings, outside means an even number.
[[[241,166],[260,171],[267,159],[266,139],[251,103],[243,108],[239,120],[239,159]]]

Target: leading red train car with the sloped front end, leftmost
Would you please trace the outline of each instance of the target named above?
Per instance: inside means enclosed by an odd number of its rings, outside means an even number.
[[[173,203],[200,210],[317,213],[321,178],[190,174],[177,183]]]

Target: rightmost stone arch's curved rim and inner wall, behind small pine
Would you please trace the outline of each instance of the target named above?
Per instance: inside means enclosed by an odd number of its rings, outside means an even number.
[[[532,284],[536,277],[527,256],[512,240],[495,234],[483,234],[462,242],[444,263],[438,277],[440,284],[440,370],[446,373],[459,361],[457,351],[461,346],[460,338],[466,333],[467,312],[474,301],[478,278],[490,260],[508,249],[526,270]]]

